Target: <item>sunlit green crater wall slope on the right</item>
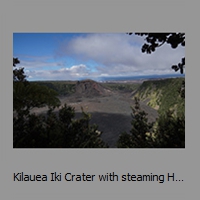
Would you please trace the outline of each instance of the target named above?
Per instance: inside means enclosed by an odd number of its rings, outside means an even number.
[[[144,81],[134,96],[139,97],[159,113],[174,110],[179,115],[185,112],[185,101],[179,94],[183,80],[185,78]]]

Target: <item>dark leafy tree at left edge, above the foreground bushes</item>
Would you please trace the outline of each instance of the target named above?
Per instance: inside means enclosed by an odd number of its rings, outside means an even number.
[[[19,63],[18,58],[13,58],[14,68]],[[60,100],[57,95],[46,86],[27,81],[24,68],[13,69],[13,110],[16,114],[27,115],[34,107],[58,107]]]

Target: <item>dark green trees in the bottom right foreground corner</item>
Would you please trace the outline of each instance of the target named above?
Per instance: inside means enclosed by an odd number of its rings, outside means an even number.
[[[185,148],[185,115],[173,116],[167,111],[156,122],[149,123],[137,98],[135,102],[132,129],[119,136],[118,148]]]

